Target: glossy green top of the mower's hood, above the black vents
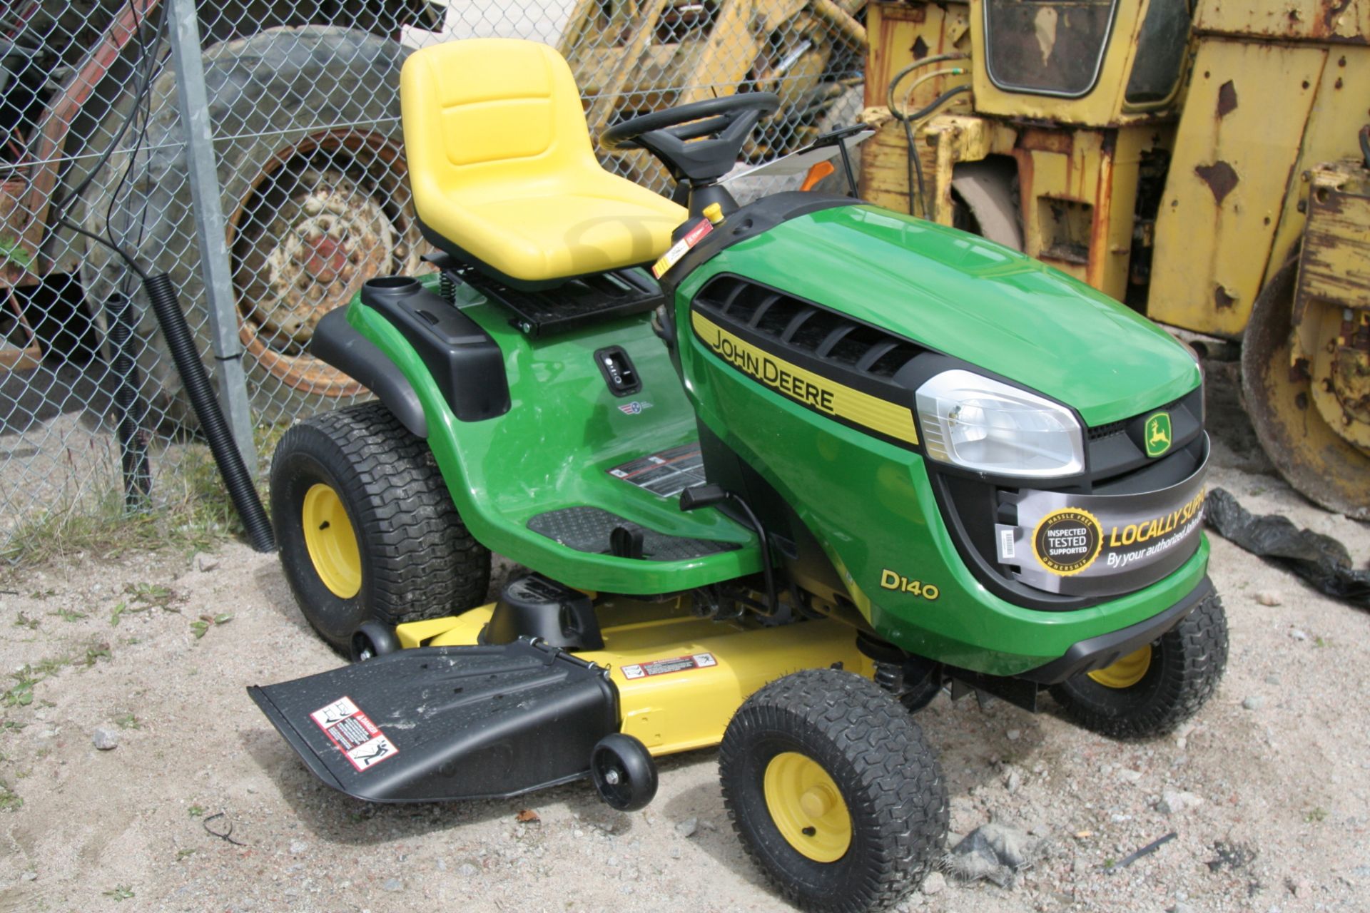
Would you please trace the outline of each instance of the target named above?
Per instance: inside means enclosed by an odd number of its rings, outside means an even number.
[[[870,205],[784,222],[689,275],[732,272],[832,307],[1075,407],[1089,426],[1193,390],[1199,365],[1155,323],[1022,253]]]

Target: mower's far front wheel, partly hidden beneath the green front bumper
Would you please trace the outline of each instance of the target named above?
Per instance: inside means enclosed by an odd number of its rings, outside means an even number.
[[[1115,739],[1170,732],[1212,697],[1228,664],[1228,616],[1217,594],[1158,639],[1112,665],[1051,689],[1066,716]]]

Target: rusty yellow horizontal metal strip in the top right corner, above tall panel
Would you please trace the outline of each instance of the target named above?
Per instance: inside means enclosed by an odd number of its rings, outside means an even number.
[[[1370,0],[1200,0],[1195,26],[1208,34],[1363,45],[1370,37]]]

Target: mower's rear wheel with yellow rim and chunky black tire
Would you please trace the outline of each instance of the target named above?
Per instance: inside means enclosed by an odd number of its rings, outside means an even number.
[[[466,531],[427,443],[379,402],[285,433],[271,516],[300,610],[341,652],[367,621],[456,615],[489,586],[490,553]]]

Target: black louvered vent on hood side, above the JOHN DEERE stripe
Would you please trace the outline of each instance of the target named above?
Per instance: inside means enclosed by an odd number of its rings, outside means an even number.
[[[889,379],[921,349],[900,337],[734,275],[711,279],[695,305],[826,364]]]

